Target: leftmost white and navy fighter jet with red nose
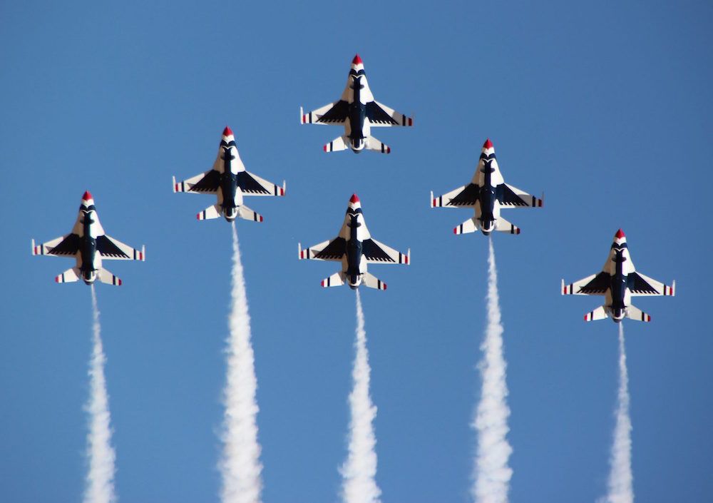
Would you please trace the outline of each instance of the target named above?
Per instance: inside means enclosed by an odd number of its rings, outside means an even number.
[[[87,190],[82,196],[79,215],[72,232],[60,238],[35,245],[32,240],[32,255],[54,255],[56,257],[74,257],[77,265],[58,275],[57,283],[71,283],[81,278],[91,285],[101,283],[121,285],[121,280],[101,266],[101,260],[146,260],[146,251],[131,248],[119,240],[104,234],[99,223],[94,199]]]

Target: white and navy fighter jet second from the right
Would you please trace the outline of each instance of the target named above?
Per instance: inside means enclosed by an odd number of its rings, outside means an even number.
[[[545,196],[543,195],[543,198]],[[498,168],[493,142],[488,138],[483,143],[478,169],[473,180],[466,186],[458,187],[434,198],[431,192],[431,208],[473,208],[476,215],[453,229],[453,234],[474,233],[481,230],[489,235],[493,230],[503,233],[519,234],[520,228],[501,217],[501,208],[519,208],[523,206],[540,208],[542,199],[535,198],[519,188],[508,185]]]

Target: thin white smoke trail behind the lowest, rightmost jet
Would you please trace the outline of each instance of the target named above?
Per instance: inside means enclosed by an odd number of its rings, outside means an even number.
[[[623,323],[619,323],[619,394],[615,415],[616,425],[610,458],[609,491],[605,501],[607,503],[633,503],[629,374],[626,369]]]

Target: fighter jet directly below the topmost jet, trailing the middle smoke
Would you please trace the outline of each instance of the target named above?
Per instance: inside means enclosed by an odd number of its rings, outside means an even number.
[[[366,272],[367,264],[411,263],[411,250],[406,255],[389,248],[384,243],[371,239],[366,228],[361,203],[356,194],[349,199],[344,225],[337,238],[302,250],[297,245],[299,258],[307,260],[334,260],[342,262],[342,270],[322,280],[322,286],[340,286],[347,283],[352,290],[364,285],[377,290],[386,290],[386,283]]]

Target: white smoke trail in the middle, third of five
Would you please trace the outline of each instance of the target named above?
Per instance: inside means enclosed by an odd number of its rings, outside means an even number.
[[[349,456],[342,469],[342,500],[344,503],[378,503],[381,489],[376,485],[376,437],[374,417],[376,407],[369,397],[369,353],[366,351],[364,311],[361,297],[356,290],[356,356],[352,380],[354,387],[349,394],[352,420],[349,422]]]

